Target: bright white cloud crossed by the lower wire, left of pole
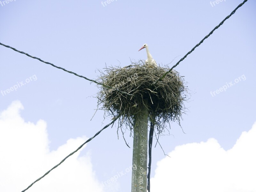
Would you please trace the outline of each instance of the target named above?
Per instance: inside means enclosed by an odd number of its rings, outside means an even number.
[[[46,123],[25,122],[19,114],[21,109],[20,101],[14,101],[0,114],[0,191],[22,191],[86,140],[69,139],[56,151],[50,151]],[[78,157],[80,151],[28,191],[103,191],[92,170],[90,155]]]

